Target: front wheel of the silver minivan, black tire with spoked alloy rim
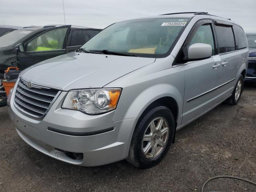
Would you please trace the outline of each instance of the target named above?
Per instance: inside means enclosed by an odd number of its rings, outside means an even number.
[[[138,122],[126,159],[138,168],[158,164],[168,152],[174,138],[175,122],[166,106],[154,106]]]

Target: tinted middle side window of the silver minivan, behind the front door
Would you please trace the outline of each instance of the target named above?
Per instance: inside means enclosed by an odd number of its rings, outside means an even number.
[[[235,50],[235,39],[231,26],[215,26],[220,53]]]

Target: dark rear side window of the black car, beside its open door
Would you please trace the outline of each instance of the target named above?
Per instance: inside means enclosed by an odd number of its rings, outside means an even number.
[[[99,30],[74,29],[71,36],[70,46],[83,45],[85,42],[87,42],[92,36],[94,36],[98,32]]]

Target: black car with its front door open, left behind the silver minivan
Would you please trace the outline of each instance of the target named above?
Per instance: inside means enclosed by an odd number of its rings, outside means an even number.
[[[78,49],[101,29],[82,26],[30,26],[0,37],[0,79],[9,66],[20,70]]]

